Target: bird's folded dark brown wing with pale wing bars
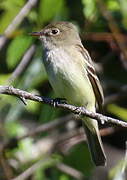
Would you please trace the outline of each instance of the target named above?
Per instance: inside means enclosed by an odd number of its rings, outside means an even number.
[[[87,50],[82,45],[77,45],[76,48],[78,48],[78,50],[84,57],[84,61],[85,61],[86,67],[87,67],[87,69],[86,69],[87,75],[92,84],[93,91],[94,91],[94,94],[96,97],[96,102],[98,104],[98,108],[100,111],[102,111],[104,95],[103,95],[103,90],[102,90],[100,81],[96,75],[92,59],[91,59],[89,53],[87,52]]]

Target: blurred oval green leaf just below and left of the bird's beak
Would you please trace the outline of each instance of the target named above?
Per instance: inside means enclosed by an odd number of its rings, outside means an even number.
[[[7,64],[9,68],[14,68],[18,64],[31,43],[32,37],[24,35],[17,36],[12,40],[7,50]]]

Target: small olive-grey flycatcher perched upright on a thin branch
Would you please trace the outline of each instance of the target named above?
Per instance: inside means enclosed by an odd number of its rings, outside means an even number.
[[[101,109],[104,100],[102,87],[75,25],[53,22],[31,35],[38,36],[43,44],[43,63],[57,97],[65,98],[70,104],[84,106],[89,111],[96,112],[96,105]],[[82,121],[92,160],[96,166],[103,166],[106,156],[98,122],[89,117],[82,117]]]

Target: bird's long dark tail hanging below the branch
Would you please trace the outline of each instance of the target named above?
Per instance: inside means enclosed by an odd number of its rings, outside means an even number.
[[[98,122],[94,119],[83,117],[83,126],[93,162],[96,166],[105,166],[106,156],[99,134]]]

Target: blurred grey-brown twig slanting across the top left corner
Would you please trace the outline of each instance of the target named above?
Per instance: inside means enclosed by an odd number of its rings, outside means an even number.
[[[2,47],[7,41],[7,38],[15,31],[15,29],[19,26],[19,24],[23,21],[23,19],[27,16],[27,14],[35,6],[36,3],[37,0],[28,0],[25,6],[23,6],[23,8],[20,10],[17,16],[6,28],[4,36],[0,37],[0,49],[2,49]]]

